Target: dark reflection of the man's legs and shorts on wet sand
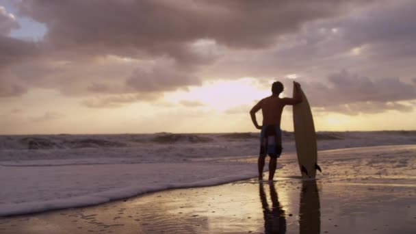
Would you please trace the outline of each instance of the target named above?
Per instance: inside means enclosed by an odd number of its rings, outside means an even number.
[[[265,233],[286,233],[285,211],[278,202],[278,196],[274,183],[268,183],[270,187],[270,199],[272,207],[269,207],[268,198],[264,192],[264,184],[259,183],[261,206],[263,207]]]

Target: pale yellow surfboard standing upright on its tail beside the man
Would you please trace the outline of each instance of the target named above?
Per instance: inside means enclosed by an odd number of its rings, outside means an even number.
[[[302,177],[315,178],[316,170],[321,170],[317,165],[315,125],[313,125],[313,116],[307,96],[302,90],[300,90],[300,94],[302,102],[293,107],[296,154]]]

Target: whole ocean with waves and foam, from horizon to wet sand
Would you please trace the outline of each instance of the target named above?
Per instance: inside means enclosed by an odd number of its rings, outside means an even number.
[[[416,131],[318,132],[317,145],[317,179],[416,182]],[[300,174],[293,133],[283,148],[276,179]],[[0,216],[250,179],[258,153],[259,133],[1,135]]]

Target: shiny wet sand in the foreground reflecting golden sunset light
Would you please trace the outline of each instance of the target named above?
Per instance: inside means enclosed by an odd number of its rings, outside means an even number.
[[[416,187],[276,177],[0,219],[0,233],[415,233]]]

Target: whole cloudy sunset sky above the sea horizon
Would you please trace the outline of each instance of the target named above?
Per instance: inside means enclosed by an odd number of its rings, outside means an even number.
[[[416,130],[416,1],[0,0],[0,134]],[[261,114],[257,114],[261,122]],[[291,107],[282,129],[293,130]]]

